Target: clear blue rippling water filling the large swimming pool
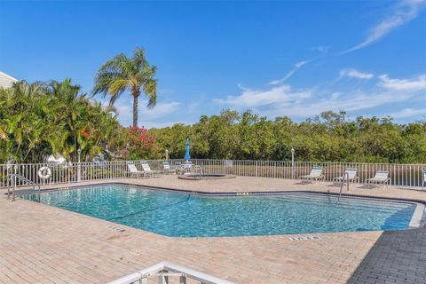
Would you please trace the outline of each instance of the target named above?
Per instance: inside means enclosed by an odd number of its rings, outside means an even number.
[[[37,200],[37,194],[23,195]],[[41,202],[174,237],[404,230],[415,205],[314,193],[206,197],[130,185],[41,193]]]

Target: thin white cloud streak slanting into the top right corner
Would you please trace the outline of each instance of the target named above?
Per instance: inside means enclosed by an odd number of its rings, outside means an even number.
[[[402,0],[392,9],[385,19],[369,30],[367,38],[362,43],[351,47],[343,53],[357,51],[377,42],[383,36],[389,34],[393,29],[398,28],[416,18],[425,3],[426,0]]]

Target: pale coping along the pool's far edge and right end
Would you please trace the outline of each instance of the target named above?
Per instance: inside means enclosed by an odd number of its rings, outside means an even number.
[[[136,187],[142,187],[142,188],[152,188],[154,190],[162,190],[162,191],[169,191],[169,192],[176,192],[176,193],[188,193],[193,195],[201,195],[201,196],[261,196],[261,195],[285,195],[287,193],[312,193],[312,194],[320,194],[320,195],[339,195],[339,193],[323,193],[323,192],[316,192],[316,191],[310,191],[310,190],[279,190],[279,191],[267,191],[267,192],[225,192],[225,193],[213,193],[213,192],[201,192],[201,191],[193,191],[193,190],[185,190],[185,189],[177,189],[177,188],[171,188],[171,187],[162,187],[162,186],[155,186],[155,185],[137,185],[137,184],[130,184],[130,183],[122,183],[122,182],[105,182],[105,183],[95,183],[91,185],[64,185],[64,186],[58,186],[58,187],[52,187],[52,188],[46,188],[42,189],[41,193],[47,193],[47,192],[55,192],[55,191],[61,191],[61,190],[71,190],[74,188],[84,188],[84,187],[91,187],[96,185],[127,185],[127,186],[136,186]],[[20,196],[23,194],[28,193],[34,193],[34,190],[20,190],[16,192],[16,195]],[[36,191],[38,192],[38,191]],[[406,230],[409,229],[417,229],[425,225],[426,223],[426,201],[417,200],[417,199],[406,199],[406,198],[395,198],[395,197],[382,197],[382,196],[368,196],[363,194],[351,194],[351,193],[342,193],[342,196],[347,196],[355,199],[367,199],[367,200],[377,200],[377,201],[398,201],[398,202],[406,202],[406,203],[412,203],[416,205],[414,209],[413,216],[411,217],[410,223],[408,224],[408,227]]]

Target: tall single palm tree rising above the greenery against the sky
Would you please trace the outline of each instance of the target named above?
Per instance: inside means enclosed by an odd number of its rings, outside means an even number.
[[[133,127],[138,126],[138,98],[141,89],[148,98],[148,108],[153,108],[157,100],[157,80],[154,79],[157,67],[146,61],[145,50],[137,48],[131,58],[120,53],[106,61],[95,77],[93,94],[110,96],[109,104],[114,105],[124,91],[133,96]]]

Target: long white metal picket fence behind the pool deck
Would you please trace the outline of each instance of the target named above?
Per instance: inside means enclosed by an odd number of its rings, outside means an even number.
[[[325,181],[333,181],[334,177],[342,177],[346,168],[358,169],[358,182],[363,184],[367,178],[374,177],[377,170],[388,170],[390,185],[400,185],[408,188],[422,187],[423,170],[426,164],[390,164],[390,163],[362,163],[362,162],[285,162],[285,161],[246,161],[246,160],[208,160],[193,159],[194,165],[201,166],[205,174],[228,174],[241,177],[273,177],[286,178],[300,177],[311,172],[312,167],[322,166]],[[163,170],[163,160],[147,160],[152,170]],[[172,167],[183,164],[185,161],[170,160]],[[139,170],[140,161],[134,161]],[[43,179],[38,176],[38,170],[43,166],[51,169],[51,177]],[[125,161],[115,162],[74,162],[66,164],[0,164],[0,188],[11,186],[10,176],[17,174],[37,185],[55,185],[64,183],[78,183],[83,181],[101,180],[107,178],[130,177]],[[16,181],[17,186],[25,183]]]

